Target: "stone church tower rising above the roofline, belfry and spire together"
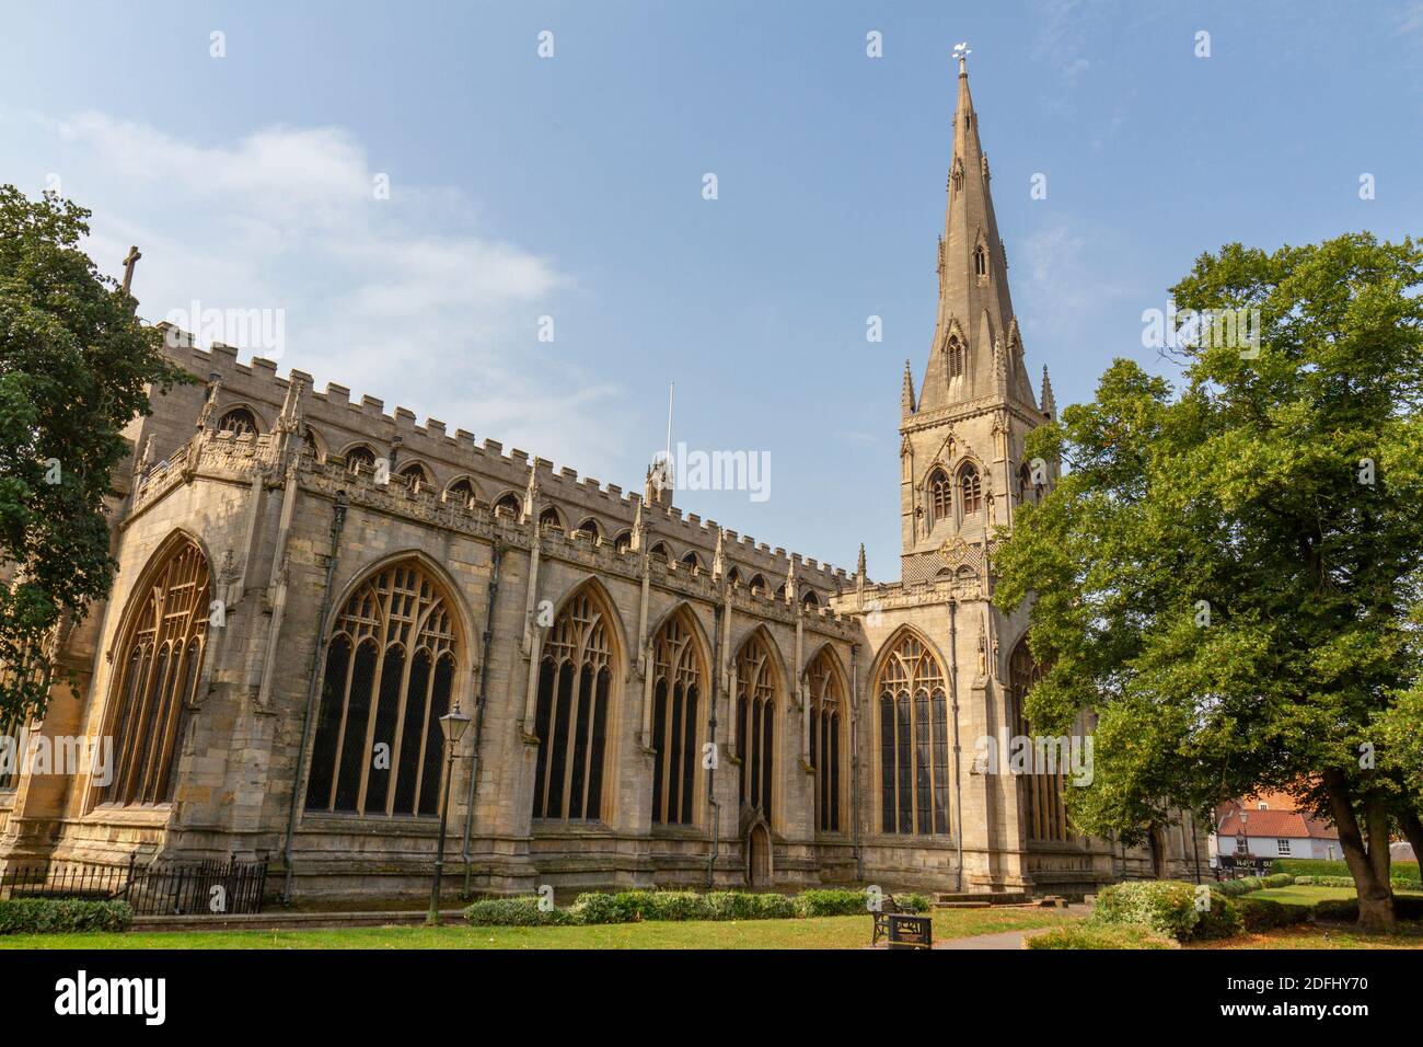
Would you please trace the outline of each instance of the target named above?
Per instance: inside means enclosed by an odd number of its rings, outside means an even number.
[[[988,538],[1049,481],[1023,462],[1023,436],[1050,417],[1033,395],[993,215],[988,155],[959,56],[953,157],[936,271],[939,306],[918,393],[901,395],[901,521],[905,584],[955,580],[988,595]],[[1044,393],[1046,385],[1044,370]]]

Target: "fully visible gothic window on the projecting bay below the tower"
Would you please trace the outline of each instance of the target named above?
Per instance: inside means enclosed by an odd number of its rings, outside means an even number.
[[[912,632],[891,644],[875,679],[879,728],[879,826],[949,832],[949,731],[943,670]]]

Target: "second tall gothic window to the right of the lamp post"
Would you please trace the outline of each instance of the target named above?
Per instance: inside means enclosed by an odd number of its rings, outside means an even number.
[[[652,821],[690,825],[696,796],[702,657],[680,615],[667,620],[652,641]]]

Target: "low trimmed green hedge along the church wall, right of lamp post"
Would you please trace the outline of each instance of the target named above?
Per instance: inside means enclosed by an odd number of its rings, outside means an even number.
[[[928,912],[924,895],[896,895],[906,912]],[[539,909],[539,899],[497,897],[475,902],[464,910],[480,926],[535,927],[548,924],[592,926],[642,923],[645,920],[785,920],[797,916],[845,916],[868,913],[864,890],[807,890],[798,897],[746,890],[620,890],[579,895],[566,909]]]

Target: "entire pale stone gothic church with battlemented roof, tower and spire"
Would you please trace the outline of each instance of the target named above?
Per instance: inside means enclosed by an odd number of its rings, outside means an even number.
[[[1194,879],[1188,819],[1086,838],[1067,768],[983,745],[1030,735],[1037,675],[1026,610],[990,604],[992,536],[1057,476],[1023,460],[1054,403],[989,185],[961,61],[895,583],[683,513],[652,472],[625,491],[164,325],[205,385],[125,433],[117,583],[28,725],[112,759],[0,778],[0,870],[266,858],[296,897],[391,897],[428,890],[448,795],[451,892]]]

